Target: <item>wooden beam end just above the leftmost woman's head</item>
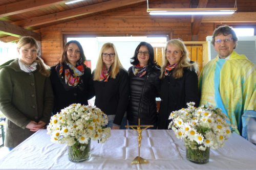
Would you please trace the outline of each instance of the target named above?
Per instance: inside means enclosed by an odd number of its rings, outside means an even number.
[[[14,37],[31,36],[38,41],[41,40],[40,33],[35,33],[33,31],[26,30],[22,27],[14,26],[11,23],[5,21],[0,21],[0,33]]]

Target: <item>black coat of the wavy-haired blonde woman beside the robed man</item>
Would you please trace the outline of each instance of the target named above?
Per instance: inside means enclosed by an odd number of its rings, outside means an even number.
[[[174,79],[172,74],[161,80],[161,104],[158,129],[168,129],[168,117],[172,111],[187,108],[186,103],[199,104],[198,77],[195,71],[184,69],[182,78]]]

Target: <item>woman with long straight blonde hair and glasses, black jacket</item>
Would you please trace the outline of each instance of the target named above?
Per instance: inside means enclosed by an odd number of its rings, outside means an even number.
[[[93,71],[95,105],[108,115],[108,127],[123,129],[124,113],[129,100],[129,79],[127,71],[119,61],[113,43],[101,47],[96,69]]]

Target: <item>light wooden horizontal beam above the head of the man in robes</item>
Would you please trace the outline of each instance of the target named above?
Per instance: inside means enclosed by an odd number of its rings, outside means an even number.
[[[232,15],[203,16],[202,22],[256,22],[256,12],[235,12]]]

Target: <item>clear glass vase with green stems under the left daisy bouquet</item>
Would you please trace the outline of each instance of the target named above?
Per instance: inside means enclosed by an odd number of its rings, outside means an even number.
[[[68,146],[69,160],[71,162],[82,162],[91,158],[91,139],[87,144],[76,142],[72,146]]]

